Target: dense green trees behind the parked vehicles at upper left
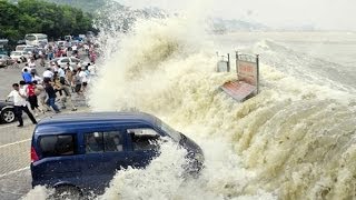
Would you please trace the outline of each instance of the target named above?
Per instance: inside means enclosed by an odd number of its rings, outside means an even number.
[[[26,33],[41,32],[49,39],[66,34],[86,33],[92,28],[92,14],[69,6],[43,0],[0,0],[0,38],[17,41]]]

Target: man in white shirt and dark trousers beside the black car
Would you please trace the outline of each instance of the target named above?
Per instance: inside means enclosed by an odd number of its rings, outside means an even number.
[[[20,90],[20,87],[18,83],[13,83],[12,88],[13,88],[13,90],[9,93],[7,101],[10,98],[13,99],[14,116],[17,117],[17,119],[19,121],[18,127],[23,127],[22,111],[24,111],[29,116],[29,118],[31,119],[33,124],[37,124],[34,117],[32,116],[29,108],[27,107],[26,91]]]

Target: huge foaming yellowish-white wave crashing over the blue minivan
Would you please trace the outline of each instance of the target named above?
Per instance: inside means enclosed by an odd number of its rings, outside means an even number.
[[[119,171],[99,199],[354,198],[353,92],[261,63],[261,92],[236,102],[218,89],[235,74],[215,72],[214,42],[189,28],[181,18],[138,20],[98,63],[90,106],[158,116],[197,141],[206,168],[182,179],[184,151],[167,144],[147,169]]]

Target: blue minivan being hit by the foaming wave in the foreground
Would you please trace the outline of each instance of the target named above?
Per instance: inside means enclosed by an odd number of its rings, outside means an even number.
[[[32,187],[56,193],[102,193],[121,168],[145,168],[159,156],[162,137],[187,150],[185,169],[198,174],[201,149],[158,118],[142,112],[59,114],[41,120],[31,142]]]

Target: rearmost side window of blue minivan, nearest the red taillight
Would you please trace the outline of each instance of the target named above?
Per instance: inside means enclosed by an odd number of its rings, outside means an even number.
[[[43,158],[70,156],[76,151],[75,134],[44,136],[39,143]]]

